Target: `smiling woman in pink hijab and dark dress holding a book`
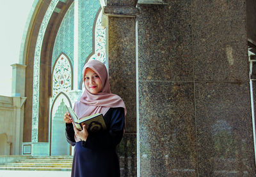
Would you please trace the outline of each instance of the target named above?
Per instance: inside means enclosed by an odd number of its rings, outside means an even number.
[[[111,94],[108,71],[102,62],[92,60],[86,63],[83,68],[83,80],[85,90],[80,100],[74,104],[74,111],[79,118],[102,113],[107,131],[88,134],[85,127],[78,131],[69,113],[65,113],[66,137],[68,143],[75,146],[72,176],[120,176],[115,148],[124,134],[124,101]]]

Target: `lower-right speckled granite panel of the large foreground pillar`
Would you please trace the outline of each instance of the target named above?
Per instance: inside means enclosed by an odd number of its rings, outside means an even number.
[[[249,83],[196,83],[199,176],[255,176]]]

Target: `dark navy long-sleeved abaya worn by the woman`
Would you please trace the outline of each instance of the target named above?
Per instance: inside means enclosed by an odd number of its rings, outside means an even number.
[[[118,177],[120,167],[116,145],[124,134],[124,108],[110,108],[104,115],[107,131],[89,134],[76,143],[72,124],[66,124],[66,137],[75,146],[72,177]]]

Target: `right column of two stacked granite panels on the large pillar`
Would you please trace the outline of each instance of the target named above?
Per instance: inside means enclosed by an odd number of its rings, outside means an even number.
[[[255,176],[244,1],[192,1],[200,176]]]

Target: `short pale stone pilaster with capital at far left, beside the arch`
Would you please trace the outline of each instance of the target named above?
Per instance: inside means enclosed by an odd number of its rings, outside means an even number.
[[[12,64],[12,96],[25,96],[26,65]]]

